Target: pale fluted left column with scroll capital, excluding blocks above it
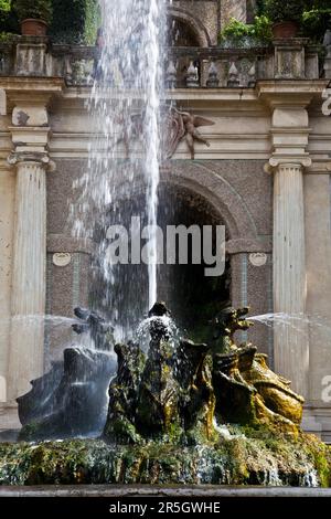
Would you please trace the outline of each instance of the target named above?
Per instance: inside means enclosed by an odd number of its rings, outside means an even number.
[[[12,271],[9,400],[26,393],[43,374],[46,262],[46,167],[44,153],[13,153],[17,166]]]

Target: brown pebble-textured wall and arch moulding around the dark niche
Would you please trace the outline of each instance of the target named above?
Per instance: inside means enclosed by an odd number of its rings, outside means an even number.
[[[72,316],[74,306],[88,304],[90,250],[72,237],[68,219],[73,183],[84,173],[87,161],[61,159],[56,166],[56,171],[47,177],[47,313]],[[253,315],[271,311],[273,179],[264,171],[264,161],[174,160],[162,182],[199,194],[225,222],[232,257],[233,304],[250,305]],[[70,264],[54,265],[55,253],[68,253]],[[256,253],[267,255],[265,265],[253,265],[249,257]],[[49,354],[57,358],[71,333],[61,333],[55,339],[50,330],[47,338]],[[261,351],[270,353],[270,337],[265,327],[257,325],[249,338]]]

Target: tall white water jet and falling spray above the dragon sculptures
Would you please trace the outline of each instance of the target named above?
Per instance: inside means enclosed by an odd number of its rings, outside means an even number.
[[[100,0],[103,29],[88,103],[94,137],[88,168],[74,186],[74,234],[97,243],[93,303],[107,309],[122,335],[157,300],[163,3]],[[141,236],[147,242],[143,255],[148,266],[140,265],[140,251],[138,260],[137,251],[132,257],[130,241],[127,248],[132,265],[124,265],[122,258],[114,261],[109,247],[125,231],[140,235],[140,229],[130,226],[132,216],[140,216],[141,229],[146,227]],[[110,225],[117,225],[111,235]],[[116,256],[120,256],[118,251]]]

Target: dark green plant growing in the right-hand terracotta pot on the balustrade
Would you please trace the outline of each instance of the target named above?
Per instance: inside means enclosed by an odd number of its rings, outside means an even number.
[[[265,14],[274,23],[297,22],[301,24],[302,14],[309,0],[266,0]]]

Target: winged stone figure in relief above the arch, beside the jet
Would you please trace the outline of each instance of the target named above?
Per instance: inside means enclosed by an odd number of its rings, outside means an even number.
[[[212,126],[213,123],[210,119],[200,117],[190,112],[181,112],[177,108],[171,108],[170,115],[168,116],[168,128],[167,128],[167,158],[171,159],[175,152],[181,140],[185,139],[188,142],[191,159],[194,160],[194,141],[202,142],[210,147],[211,144],[206,140],[197,130],[200,126]]]

